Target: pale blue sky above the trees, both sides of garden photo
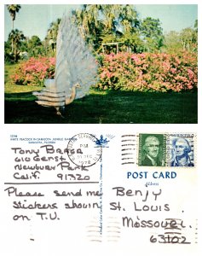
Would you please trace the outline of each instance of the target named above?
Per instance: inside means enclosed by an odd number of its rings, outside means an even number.
[[[26,37],[37,35],[41,40],[46,36],[52,21],[60,18],[64,12],[78,9],[79,4],[20,4],[21,9],[14,20],[14,28],[18,28]],[[135,5],[141,19],[148,16],[161,21],[164,32],[181,31],[193,27],[198,19],[197,4],[138,4]],[[4,40],[12,29],[9,11],[4,6]]]

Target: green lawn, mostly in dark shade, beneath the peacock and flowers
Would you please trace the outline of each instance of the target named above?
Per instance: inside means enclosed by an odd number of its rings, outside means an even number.
[[[91,89],[66,106],[65,119],[55,108],[38,106],[36,86],[11,83],[14,65],[5,67],[6,124],[196,124],[197,92],[157,93]]]

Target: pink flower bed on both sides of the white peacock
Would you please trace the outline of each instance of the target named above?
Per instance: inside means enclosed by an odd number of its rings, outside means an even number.
[[[164,53],[118,53],[100,55],[100,80],[95,85],[102,90],[186,91],[198,86],[197,55]],[[39,57],[22,62],[12,76],[14,84],[43,85],[53,79],[55,58]]]

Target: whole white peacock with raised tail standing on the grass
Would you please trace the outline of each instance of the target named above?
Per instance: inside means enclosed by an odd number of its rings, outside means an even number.
[[[55,107],[57,114],[75,99],[89,93],[97,78],[97,64],[72,22],[72,17],[64,15],[59,27],[56,43],[55,79],[45,79],[45,88],[34,91],[36,101],[44,107]]]

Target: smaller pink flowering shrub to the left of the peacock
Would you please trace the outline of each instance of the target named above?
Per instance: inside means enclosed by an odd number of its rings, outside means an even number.
[[[30,58],[22,62],[12,76],[14,84],[43,85],[44,79],[53,79],[55,75],[55,58]]]

